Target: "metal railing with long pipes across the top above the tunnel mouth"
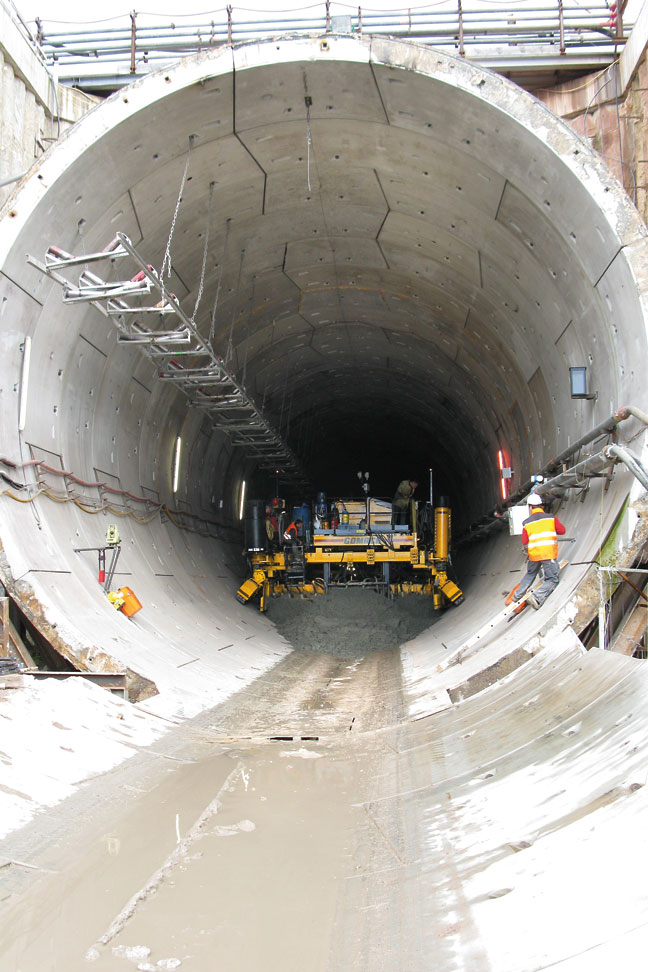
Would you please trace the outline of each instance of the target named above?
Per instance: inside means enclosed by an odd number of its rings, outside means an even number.
[[[352,14],[335,16],[330,0],[326,0],[320,13],[246,19],[243,14],[249,18],[248,11],[242,11],[239,17],[230,5],[215,11],[218,16],[214,19],[182,25],[144,23],[145,15],[133,11],[119,25],[111,22],[96,29],[80,25],[66,31],[56,31],[47,20],[39,19],[36,40],[61,81],[78,82],[81,76],[90,79],[109,74],[126,83],[187,54],[280,35],[367,33],[450,48],[452,53],[477,61],[486,52],[498,51],[504,58],[519,60],[522,56],[529,64],[546,58],[548,53],[568,59],[570,55],[597,52],[612,60],[629,35],[614,4],[612,8],[605,4],[585,8],[556,0],[490,10],[464,9],[457,0],[445,9],[427,11],[376,13],[361,7],[353,9]]]

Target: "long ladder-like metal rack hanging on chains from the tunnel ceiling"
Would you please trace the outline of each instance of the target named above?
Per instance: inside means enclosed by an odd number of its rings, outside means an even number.
[[[106,281],[87,269],[88,264],[113,263],[125,257],[130,257],[138,268],[129,280]],[[110,318],[119,331],[118,342],[139,347],[147,357],[158,361],[159,379],[179,388],[190,407],[203,409],[213,428],[225,432],[233,446],[257,459],[259,468],[279,470],[289,479],[307,482],[297,456],[124,233],[117,233],[104,250],[96,253],[75,256],[52,245],[45,254],[45,263],[29,255],[27,262],[62,287],[64,303],[90,303]],[[75,285],[61,271],[78,266],[84,269]],[[151,294],[154,298],[159,295],[159,299],[144,302]],[[159,323],[167,315],[176,318],[176,326],[171,329],[156,330],[146,323]]]

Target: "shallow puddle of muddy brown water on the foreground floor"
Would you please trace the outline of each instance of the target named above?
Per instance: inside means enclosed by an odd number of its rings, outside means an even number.
[[[94,968],[116,969],[134,946],[150,949],[146,968],[169,960],[192,972],[328,967],[358,812],[347,802],[352,774],[303,746],[273,752],[241,762],[218,812],[98,945]]]

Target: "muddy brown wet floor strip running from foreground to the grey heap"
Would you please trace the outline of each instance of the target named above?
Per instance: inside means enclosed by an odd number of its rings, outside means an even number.
[[[400,866],[366,782],[401,715],[396,652],[293,653],[7,839],[0,967],[339,968],[358,879]]]

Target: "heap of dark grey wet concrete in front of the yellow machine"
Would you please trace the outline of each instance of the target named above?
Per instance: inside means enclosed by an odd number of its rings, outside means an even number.
[[[436,620],[431,598],[392,600],[351,587],[309,599],[274,598],[268,617],[293,648],[341,658],[393,650]]]

